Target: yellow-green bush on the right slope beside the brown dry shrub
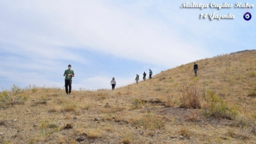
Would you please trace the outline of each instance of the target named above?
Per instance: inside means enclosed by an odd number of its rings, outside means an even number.
[[[237,107],[233,106],[232,108],[229,108],[223,99],[210,90],[206,91],[206,97],[210,99],[210,109],[208,112],[204,113],[205,116],[235,119],[238,114]]]

